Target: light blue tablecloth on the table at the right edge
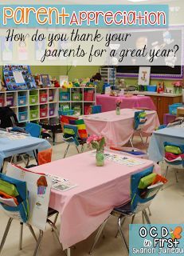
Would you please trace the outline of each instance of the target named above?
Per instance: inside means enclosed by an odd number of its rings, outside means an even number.
[[[184,128],[168,127],[156,130],[148,147],[149,158],[154,162],[162,161],[164,156],[163,142],[174,142],[184,145]]]

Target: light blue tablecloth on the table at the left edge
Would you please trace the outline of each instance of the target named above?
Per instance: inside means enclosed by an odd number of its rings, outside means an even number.
[[[2,166],[4,158],[8,158],[14,154],[31,152],[33,150],[41,151],[49,147],[49,142],[42,138],[34,138],[31,136],[14,140],[10,138],[0,138],[0,166]]]

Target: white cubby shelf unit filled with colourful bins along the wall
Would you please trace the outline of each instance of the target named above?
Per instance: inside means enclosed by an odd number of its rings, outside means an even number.
[[[92,101],[84,101],[84,93],[94,90]],[[41,88],[33,90],[6,90],[0,91],[0,106],[10,106],[18,117],[18,122],[39,122],[43,119],[58,117],[61,105],[68,104],[72,109],[80,104],[81,114],[84,114],[85,106],[96,103],[95,87],[69,88],[69,101],[60,100],[61,88]],[[72,94],[80,92],[81,100],[72,101]]]

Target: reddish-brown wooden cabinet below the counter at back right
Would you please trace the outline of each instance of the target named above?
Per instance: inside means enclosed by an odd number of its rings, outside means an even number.
[[[169,105],[182,102],[182,96],[167,97],[151,95],[149,97],[151,97],[152,101],[155,103],[159,116],[159,122],[161,124],[163,123],[163,115],[169,112]]]

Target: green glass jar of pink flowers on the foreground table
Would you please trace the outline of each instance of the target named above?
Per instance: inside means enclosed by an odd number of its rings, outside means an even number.
[[[88,137],[87,144],[96,150],[96,166],[104,166],[105,138],[103,136],[92,135]]]

